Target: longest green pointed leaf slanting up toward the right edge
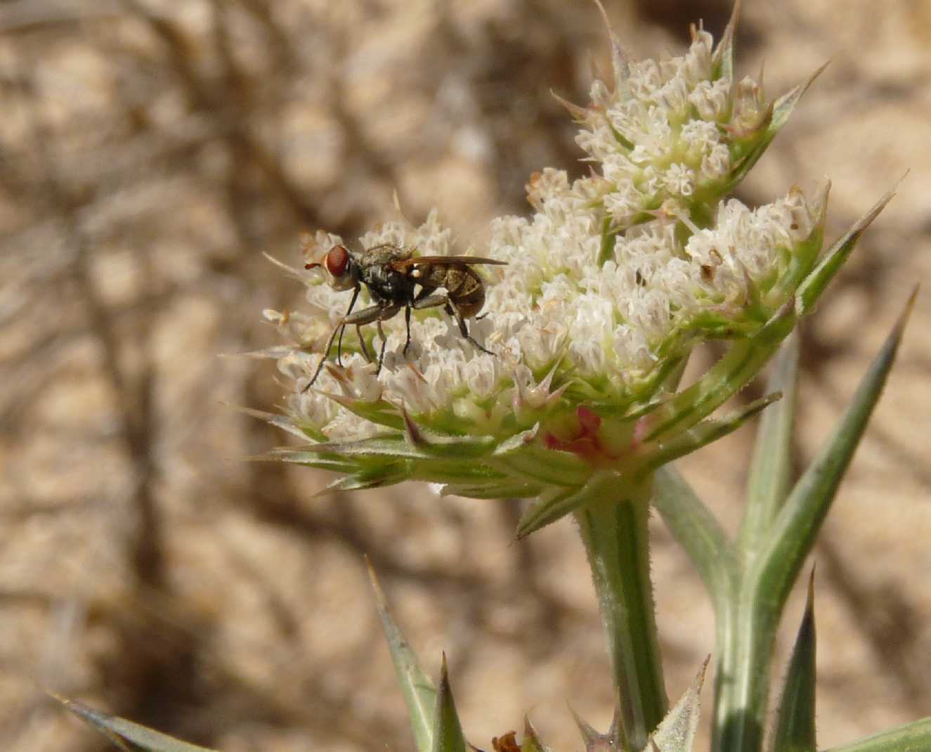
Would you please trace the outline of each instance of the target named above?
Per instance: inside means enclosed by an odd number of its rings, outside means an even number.
[[[776,603],[784,603],[789,595],[804,557],[815,543],[817,531],[857,450],[872,410],[883,393],[917,291],[915,289],[911,294],[896,326],[873,359],[841,422],[791,491],[767,536],[769,543],[749,572],[749,576],[758,578],[758,592],[766,593],[767,598]]]

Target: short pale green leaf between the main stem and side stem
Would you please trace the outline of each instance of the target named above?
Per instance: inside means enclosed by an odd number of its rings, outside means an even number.
[[[730,602],[739,565],[718,519],[672,464],[656,471],[653,503],[672,536],[692,559],[715,611],[722,612]]]

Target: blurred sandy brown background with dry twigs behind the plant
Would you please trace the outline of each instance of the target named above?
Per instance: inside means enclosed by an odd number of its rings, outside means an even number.
[[[636,57],[729,13],[605,2]],[[745,6],[738,70],[765,60],[770,96],[831,64],[741,198],[830,176],[833,237],[911,168],[805,325],[801,466],[931,267],[931,4]],[[592,58],[585,0],[0,2],[0,747],[109,748],[47,686],[229,752],[412,748],[363,552],[473,743],[530,710],[580,749],[567,701],[607,724],[569,522],[511,544],[513,504],[312,500],[325,475],[242,462],[285,438],[224,404],[274,409],[274,367],[218,356],[277,342],[261,311],[301,289],[262,251],[298,262],[302,230],[358,236],[397,190],[480,238],[533,170],[580,174],[549,91],[584,101]],[[925,290],[816,548],[825,746],[931,714],[929,324]],[[751,436],[683,467],[732,526]],[[658,520],[654,569],[678,696],[712,624]]]

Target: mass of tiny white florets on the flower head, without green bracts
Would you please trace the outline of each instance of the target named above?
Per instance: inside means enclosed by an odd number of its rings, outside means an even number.
[[[688,334],[695,316],[709,310],[739,316],[749,286],[772,286],[792,248],[812,233],[817,211],[793,191],[756,210],[722,201],[706,208],[715,218],[710,226],[695,224],[696,191],[723,182],[731,169],[725,128],[731,92],[711,75],[711,38],[697,32],[683,57],[629,64],[613,90],[596,82],[592,107],[575,108],[586,127],[578,141],[600,174],[573,183],[560,170],[534,175],[533,215],[496,220],[489,248],[479,254],[507,265],[474,267],[487,298],[484,316],[470,319],[469,331],[495,355],[467,342],[441,308],[414,311],[406,355],[403,315],[384,322],[377,376],[347,328],[344,369],[324,369],[304,391],[351,292],[331,289],[319,268],[298,273],[317,315],[290,316],[287,325],[304,347],[279,359],[296,383],[295,418],[330,439],[371,436],[377,426],[347,410],[345,399],[384,400],[427,422],[443,416],[446,424],[466,422],[470,431],[493,434],[514,411],[516,396],[538,394],[553,369],[561,374],[556,385],[580,381],[620,402],[657,368],[664,344]],[[342,242],[318,233],[310,261],[320,262]],[[416,228],[387,222],[359,242],[418,255],[471,253],[452,248],[435,213]],[[368,304],[363,289],[357,310]],[[282,323],[281,315],[268,316]]]

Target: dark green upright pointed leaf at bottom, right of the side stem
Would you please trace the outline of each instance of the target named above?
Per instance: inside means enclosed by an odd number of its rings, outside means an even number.
[[[815,572],[776,713],[773,752],[815,752]]]

